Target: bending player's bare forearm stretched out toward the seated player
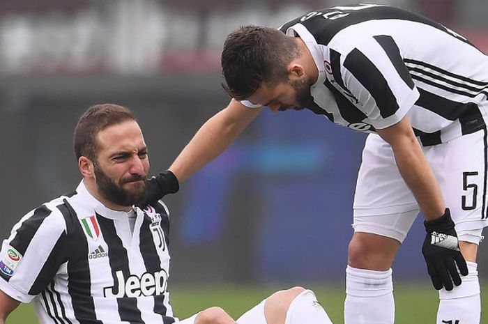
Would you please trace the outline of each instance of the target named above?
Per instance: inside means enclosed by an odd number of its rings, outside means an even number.
[[[222,154],[246,126],[262,111],[249,109],[232,99],[222,111],[208,119],[198,130],[169,170],[178,181],[189,178],[205,164]]]

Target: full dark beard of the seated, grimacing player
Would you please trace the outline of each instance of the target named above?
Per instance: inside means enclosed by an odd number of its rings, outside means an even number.
[[[98,186],[98,193],[105,199],[119,206],[132,206],[139,201],[144,200],[146,194],[146,180],[145,176],[131,176],[130,178],[121,179],[119,183],[114,181],[105,174],[98,164],[93,163],[93,171],[95,171],[96,182]],[[132,181],[144,180],[139,186],[133,187],[133,190],[125,190],[122,185]]]

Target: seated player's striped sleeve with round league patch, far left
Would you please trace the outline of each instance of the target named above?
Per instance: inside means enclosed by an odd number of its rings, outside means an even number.
[[[0,251],[0,290],[31,302],[52,282],[66,256],[66,222],[55,206],[43,205],[18,222]]]

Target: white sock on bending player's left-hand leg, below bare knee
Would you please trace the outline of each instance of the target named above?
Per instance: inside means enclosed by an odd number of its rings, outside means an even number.
[[[346,268],[345,324],[393,324],[392,270]],[[454,323],[453,323],[454,324]]]

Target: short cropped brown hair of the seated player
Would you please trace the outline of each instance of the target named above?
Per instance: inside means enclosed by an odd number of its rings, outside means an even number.
[[[96,162],[98,153],[98,132],[105,128],[122,123],[124,121],[135,121],[135,116],[128,108],[114,105],[102,104],[93,105],[86,109],[79,118],[73,136],[76,159],[85,156]]]

